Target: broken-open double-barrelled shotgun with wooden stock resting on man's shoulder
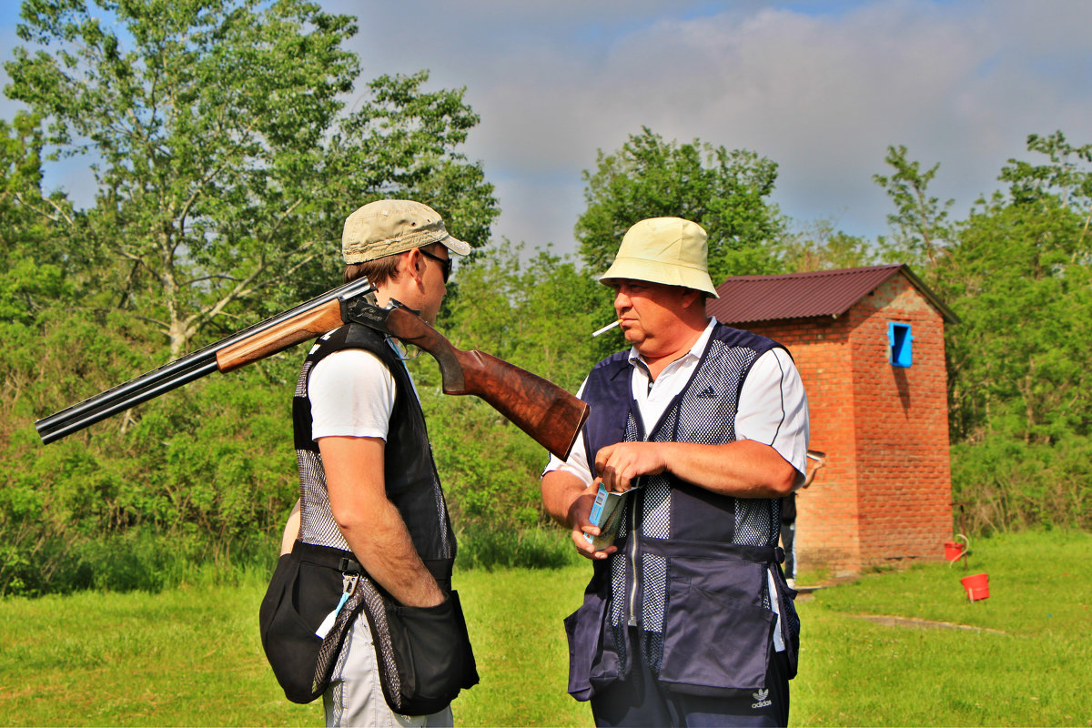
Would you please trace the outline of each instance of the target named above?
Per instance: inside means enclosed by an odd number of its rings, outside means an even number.
[[[589,407],[556,384],[483,351],[452,346],[411,309],[379,308],[375,286],[359,278],[215,344],[35,422],[44,443],[78,432],[142,402],[211,374],[229,372],[289,346],[356,322],[428,351],[440,365],[444,394],[485,399],[550,453],[567,458]]]

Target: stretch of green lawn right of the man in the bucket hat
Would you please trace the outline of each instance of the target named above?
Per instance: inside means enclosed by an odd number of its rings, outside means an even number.
[[[1092,725],[1089,563],[1088,534],[1028,533],[978,539],[968,570],[934,563],[816,592],[800,604],[793,723]],[[988,574],[989,598],[972,602],[960,578],[976,573]]]

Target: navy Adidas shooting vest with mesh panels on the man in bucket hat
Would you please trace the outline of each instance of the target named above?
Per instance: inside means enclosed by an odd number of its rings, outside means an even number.
[[[584,443],[593,477],[595,454],[616,442],[734,442],[744,381],[775,347],[763,336],[716,324],[690,382],[658,422],[641,421],[630,353],[601,361],[583,391],[592,408]],[[799,622],[794,593],[776,565],[784,558],[779,533],[779,499],[720,496],[669,473],[643,476],[629,498],[618,551],[594,562],[584,607],[567,624],[574,653],[569,691],[587,700],[625,680],[631,635],[644,641],[649,667],[676,692],[729,695],[762,688],[774,629],[782,630],[795,673]],[[771,570],[782,624],[770,608]]]

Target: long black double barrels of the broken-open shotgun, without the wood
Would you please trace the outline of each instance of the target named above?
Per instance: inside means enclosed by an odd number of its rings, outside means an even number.
[[[349,299],[375,290],[367,278],[359,278],[353,283],[328,290],[327,293],[300,303],[299,306],[278,313],[275,317],[260,321],[252,326],[244,329],[215,344],[211,344],[202,349],[188,354],[185,357],[170,361],[157,369],[141,374],[134,379],[110,387],[93,397],[76,403],[71,407],[66,407],[48,417],[39,419],[34,423],[44,443],[59,440],[72,432],[78,432],[85,427],[94,425],[110,415],[115,415],[130,407],[155,398],[165,392],[169,392],[183,384],[217,371],[216,354],[239,342],[242,342],[254,334],[263,332],[273,326],[277,326],[285,321],[299,315],[313,308],[328,303],[332,300]]]

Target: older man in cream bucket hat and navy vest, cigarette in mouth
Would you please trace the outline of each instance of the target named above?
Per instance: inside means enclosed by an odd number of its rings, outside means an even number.
[[[784,347],[705,314],[707,259],[692,222],[629,229],[601,283],[630,348],[592,369],[581,440],[543,476],[593,562],[566,631],[569,692],[600,726],[788,720],[799,621],[778,510],[804,480],[807,399]],[[605,545],[591,516],[615,500]]]

